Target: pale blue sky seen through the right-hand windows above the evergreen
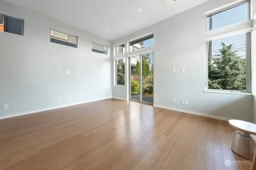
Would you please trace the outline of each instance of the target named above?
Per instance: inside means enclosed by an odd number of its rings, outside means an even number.
[[[231,24],[236,24],[238,22],[243,22],[248,20],[248,3],[236,6],[232,9],[220,12],[212,16],[212,29],[228,26]],[[207,18],[207,30],[210,28],[210,20]],[[246,49],[246,34],[240,34],[236,36],[230,36],[218,40],[212,41],[212,51],[213,55],[218,55],[219,49],[221,49],[221,42],[226,43],[226,45],[234,44],[234,50],[239,50],[237,54],[239,56],[245,57],[246,51],[240,51]]]

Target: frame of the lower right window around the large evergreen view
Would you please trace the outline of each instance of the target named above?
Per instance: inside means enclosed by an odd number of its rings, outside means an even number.
[[[215,92],[215,93],[234,93],[234,94],[251,94],[252,91],[252,62],[251,62],[251,31],[248,32],[242,32],[240,34],[246,34],[246,91],[242,91],[242,90],[224,90],[224,89],[209,89],[209,84],[208,84],[208,76],[209,76],[209,72],[208,72],[208,42],[205,42],[205,47],[206,47],[206,80],[205,80],[205,91],[204,92]],[[240,34],[234,34],[231,36],[236,36],[236,35],[240,35]],[[231,36],[226,36],[226,37],[231,37]],[[226,38],[223,37],[223,38]],[[221,39],[221,38],[219,38]],[[219,39],[214,39],[214,40],[219,40]],[[212,41],[212,40],[210,40]]]

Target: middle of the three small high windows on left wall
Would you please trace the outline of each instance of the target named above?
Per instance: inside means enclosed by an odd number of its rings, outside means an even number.
[[[62,32],[50,30],[50,42],[77,48],[78,38]]]

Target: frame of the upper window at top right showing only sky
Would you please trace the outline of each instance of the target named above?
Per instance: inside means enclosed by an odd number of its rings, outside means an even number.
[[[231,6],[227,6],[227,7],[225,7],[225,8],[220,9],[220,10],[216,10],[216,11],[214,11],[214,12],[210,12],[209,14],[206,14],[206,15],[205,15],[205,31],[206,31],[206,32],[211,31],[211,30],[207,30],[207,18],[208,18],[209,16],[214,16],[215,14],[219,14],[219,13],[221,13],[221,12],[224,12],[224,11],[226,11],[226,10],[230,10],[230,9],[232,9],[232,8],[235,8],[235,7],[237,7],[237,6],[240,6],[240,5],[246,4],[246,3],[248,3],[248,20],[251,20],[251,18],[252,18],[252,16],[251,16],[251,0],[244,0],[244,1],[242,1],[242,2],[238,2],[238,3],[233,4],[233,5],[231,5]],[[247,20],[247,21],[248,21],[248,20]],[[240,22],[238,22],[238,23],[240,23]],[[234,24],[237,24],[237,23],[234,23]],[[233,24],[231,24],[231,25],[233,25]],[[228,25],[228,26],[231,26],[231,25]],[[223,26],[223,27],[226,27],[226,26]],[[223,28],[223,27],[220,27],[220,28]],[[215,28],[215,29],[219,29],[219,28]],[[215,29],[213,29],[213,30],[215,30]]]

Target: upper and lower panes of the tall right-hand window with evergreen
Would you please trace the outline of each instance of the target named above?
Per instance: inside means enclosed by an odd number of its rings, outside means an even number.
[[[248,8],[248,2],[245,2],[208,16],[208,30],[248,20]],[[227,32],[223,34],[223,38],[207,42],[206,90],[250,93],[250,31],[239,33],[236,27],[232,31],[236,33],[230,35]]]

